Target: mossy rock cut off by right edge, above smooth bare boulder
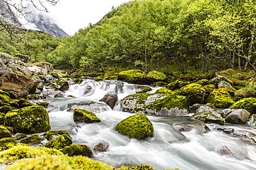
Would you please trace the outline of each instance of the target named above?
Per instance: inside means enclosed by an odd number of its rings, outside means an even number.
[[[230,109],[246,109],[250,114],[256,114],[256,98],[243,98],[229,107]]]

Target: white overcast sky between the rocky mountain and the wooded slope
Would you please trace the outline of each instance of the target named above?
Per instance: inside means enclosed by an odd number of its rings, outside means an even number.
[[[50,6],[48,15],[69,35],[75,34],[89,23],[97,23],[112,6],[118,7],[131,0],[60,0]]]

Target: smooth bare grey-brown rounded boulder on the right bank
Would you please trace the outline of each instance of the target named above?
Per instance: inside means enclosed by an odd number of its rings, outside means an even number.
[[[232,111],[225,120],[227,123],[244,124],[249,119],[250,113],[246,109]]]

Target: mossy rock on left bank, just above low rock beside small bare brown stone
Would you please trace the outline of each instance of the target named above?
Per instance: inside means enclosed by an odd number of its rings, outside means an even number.
[[[70,146],[73,144],[72,138],[67,135],[60,135],[57,138],[50,140],[49,142],[44,145],[44,147],[50,147],[54,149],[58,149],[60,151],[63,151],[64,147]]]

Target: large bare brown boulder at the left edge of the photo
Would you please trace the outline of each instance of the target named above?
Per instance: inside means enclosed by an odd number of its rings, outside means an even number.
[[[0,77],[0,88],[12,92],[19,97],[28,95],[34,81],[26,76],[6,72]]]

